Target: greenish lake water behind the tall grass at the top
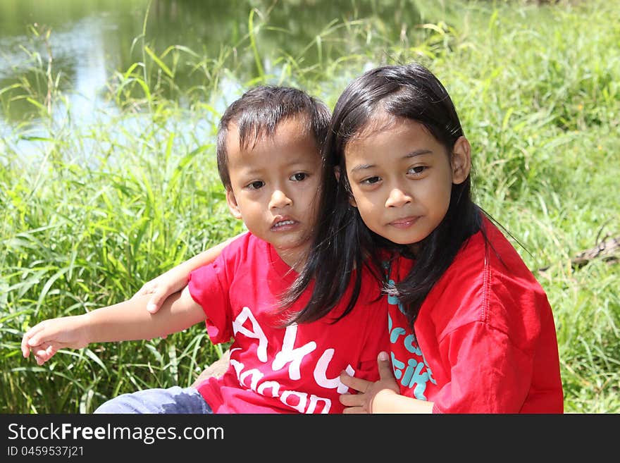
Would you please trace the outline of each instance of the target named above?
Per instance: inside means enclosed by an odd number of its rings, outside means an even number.
[[[2,0],[0,1],[0,92],[27,78],[44,86],[33,74],[28,54],[36,51],[45,68],[49,51],[44,41],[33,40],[29,27],[51,30],[49,48],[54,75],[68,98],[71,117],[80,123],[113,111],[101,95],[111,75],[142,60],[140,37],[161,53],[171,45],[192,49],[200,56],[218,56],[223,46],[240,47],[235,78],[247,82],[257,73],[255,58],[247,47],[249,18],[260,25],[256,48],[265,72],[272,70],[273,56],[302,56],[303,65],[336,59],[364,47],[369,37],[350,35],[342,24],[374,21],[382,39],[398,43],[410,25],[419,24],[421,13],[414,0]],[[434,2],[427,2],[428,4]],[[325,34],[330,27],[335,30]],[[316,37],[325,38],[318,47]],[[185,73],[185,74],[184,74]],[[326,76],[332,78],[333,76]],[[192,85],[189,70],[175,75],[179,85]],[[230,84],[230,82],[228,82]],[[227,85],[223,82],[221,85]],[[225,92],[224,92],[225,93]],[[10,92],[5,92],[6,99]],[[0,94],[0,97],[2,95]],[[5,101],[6,103],[6,101]],[[24,121],[32,124],[35,106],[26,99],[3,104],[0,137]],[[36,131],[36,130],[35,130]]]

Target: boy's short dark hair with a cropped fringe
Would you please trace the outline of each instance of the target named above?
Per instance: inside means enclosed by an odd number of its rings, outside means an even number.
[[[322,101],[306,92],[291,87],[262,85],[245,92],[224,111],[218,125],[217,158],[218,172],[226,189],[230,189],[228,175],[228,151],[226,137],[230,124],[237,125],[239,144],[242,149],[254,147],[260,137],[271,137],[284,119],[303,116],[309,123],[308,135],[323,146],[330,120],[330,110]]]

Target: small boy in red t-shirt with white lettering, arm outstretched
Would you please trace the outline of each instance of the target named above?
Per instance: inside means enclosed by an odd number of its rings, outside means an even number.
[[[223,114],[217,158],[230,212],[249,233],[212,265],[192,272],[187,287],[156,314],[145,309],[146,296],[46,320],[25,333],[24,357],[32,350],[43,364],[63,347],[149,339],[206,321],[212,342],[235,338],[221,378],[208,378],[197,389],[120,395],[96,413],[342,412],[338,395],[347,388],[340,372],[376,381],[377,354],[387,348],[387,304],[378,299],[378,282],[365,272],[359,302],[337,323],[349,297],[327,316],[299,325],[285,321],[308,297],[278,309],[314,235],[319,147],[328,120],[328,109],[297,89],[266,86],[245,93]]]

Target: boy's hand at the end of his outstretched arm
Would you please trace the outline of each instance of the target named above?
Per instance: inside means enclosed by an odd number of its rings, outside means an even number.
[[[81,349],[89,342],[85,315],[66,316],[44,320],[26,331],[22,338],[22,354],[35,355],[37,364],[42,365],[60,349]]]

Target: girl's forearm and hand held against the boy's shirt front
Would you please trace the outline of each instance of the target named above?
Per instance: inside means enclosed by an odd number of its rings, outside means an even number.
[[[349,376],[344,371],[340,374],[343,384],[358,391],[340,395],[340,403],[347,407],[343,413],[433,413],[433,402],[399,394],[387,352],[379,354],[377,363],[379,381],[374,383]]]

